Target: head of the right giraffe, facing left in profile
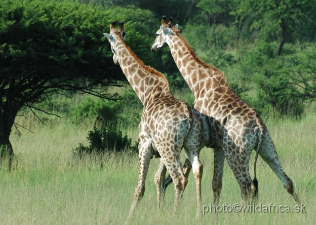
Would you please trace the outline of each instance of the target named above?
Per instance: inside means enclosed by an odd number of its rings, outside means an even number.
[[[152,45],[152,52],[157,52],[159,48],[163,46],[169,45],[169,36],[170,35],[175,35],[175,33],[179,28],[179,25],[172,25],[172,20],[173,18],[170,17],[169,23],[166,23],[167,17],[163,16],[161,20],[161,25],[159,30],[156,32],[157,38],[154,41],[154,44]]]

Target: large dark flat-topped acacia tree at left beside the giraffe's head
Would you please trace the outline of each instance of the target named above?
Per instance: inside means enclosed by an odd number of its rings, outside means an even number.
[[[133,10],[129,10],[132,14]],[[9,136],[18,112],[60,90],[118,100],[103,86],[125,80],[108,41],[111,11],[72,1],[0,0],[0,146],[13,155]],[[135,24],[130,23],[131,30]],[[148,37],[138,35],[134,44]]]

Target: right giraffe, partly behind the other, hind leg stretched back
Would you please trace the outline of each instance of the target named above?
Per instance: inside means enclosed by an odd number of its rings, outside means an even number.
[[[206,146],[214,148],[212,188],[215,204],[222,188],[224,156],[238,181],[242,198],[248,199],[253,193],[257,195],[258,154],[275,172],[283,187],[300,203],[293,182],[283,171],[275,145],[259,114],[232,91],[223,73],[197,57],[179,32],[178,25],[172,25],[172,18],[167,24],[164,16],[151,51],[156,52],[166,45],[170,47],[180,73],[195,96],[194,111],[201,122],[202,133],[209,134]],[[252,150],[256,150],[253,181],[248,165]],[[185,176],[190,173],[189,164],[188,161],[184,163]]]

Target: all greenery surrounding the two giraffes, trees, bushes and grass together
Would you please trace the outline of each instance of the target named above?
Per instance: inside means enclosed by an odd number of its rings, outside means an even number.
[[[207,214],[196,221],[190,175],[181,213],[169,214],[169,188],[161,216],[153,159],[133,223],[313,224],[315,7],[315,0],[0,0],[0,144],[12,144],[15,152],[10,173],[7,160],[0,164],[1,223],[124,222],[138,177],[142,104],[114,65],[102,33],[110,21],[124,21],[131,49],[164,73],[177,98],[192,105],[169,49],[150,53],[166,15],[179,23],[197,55],[223,71],[232,89],[264,118],[308,213]],[[5,157],[7,148],[0,150]],[[201,159],[202,199],[209,204],[212,150],[203,150]],[[259,202],[294,206],[262,160],[257,168]],[[227,163],[222,193],[220,204],[240,202]]]

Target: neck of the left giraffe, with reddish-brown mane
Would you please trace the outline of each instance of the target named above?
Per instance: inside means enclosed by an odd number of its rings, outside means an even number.
[[[154,99],[172,95],[164,75],[145,66],[119,35],[115,44],[119,65],[144,106]]]

